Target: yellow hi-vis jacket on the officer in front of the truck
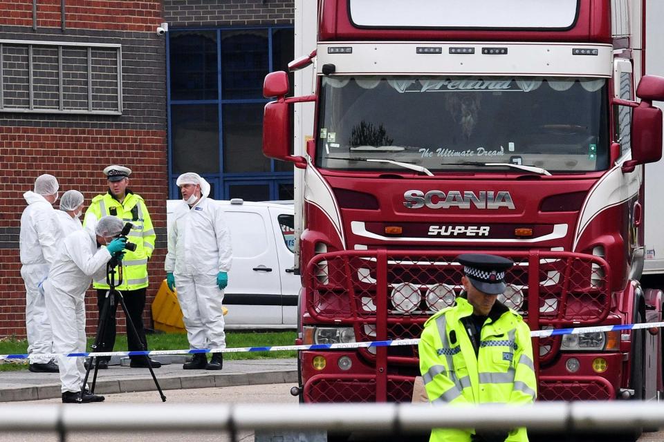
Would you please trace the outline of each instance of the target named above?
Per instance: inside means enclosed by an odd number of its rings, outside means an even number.
[[[481,329],[479,354],[461,318],[472,305],[457,298],[425,323],[419,343],[420,370],[429,401],[454,405],[506,403],[525,405],[537,396],[530,329],[516,311],[496,302]],[[469,442],[473,430],[434,429],[431,442]],[[508,442],[528,441],[525,428],[510,432]]]

